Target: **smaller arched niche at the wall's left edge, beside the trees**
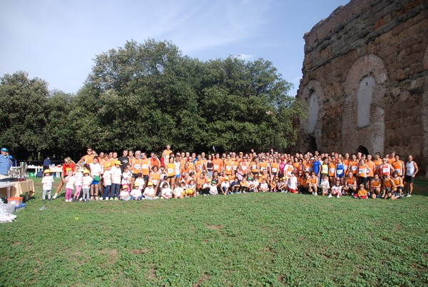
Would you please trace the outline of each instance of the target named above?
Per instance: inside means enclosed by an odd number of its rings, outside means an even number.
[[[303,89],[302,101],[305,101],[308,106],[308,117],[300,121],[300,129],[303,133],[312,138],[311,146],[322,146],[322,116],[325,111],[323,103],[325,101],[324,92],[320,81],[312,80]]]

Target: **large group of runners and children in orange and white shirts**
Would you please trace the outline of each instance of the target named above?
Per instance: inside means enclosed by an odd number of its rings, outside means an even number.
[[[141,151],[96,153],[87,149],[77,163],[65,158],[61,182],[51,197],[54,179],[46,166],[43,200],[105,201],[184,198],[248,192],[307,193],[313,196],[397,199],[412,196],[417,163],[404,163],[394,151],[305,154],[189,153],[166,146],[160,156]],[[46,198],[47,196],[47,198]]]

